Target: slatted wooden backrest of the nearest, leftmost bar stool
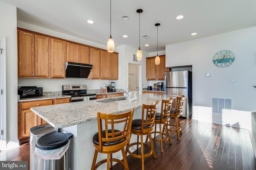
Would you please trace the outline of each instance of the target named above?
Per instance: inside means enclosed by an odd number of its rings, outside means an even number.
[[[110,143],[126,138],[122,143],[128,143],[130,139],[134,107],[127,112],[108,114],[98,112],[99,148],[104,143]],[[120,128],[122,127],[122,129]],[[105,134],[103,131],[105,130]]]

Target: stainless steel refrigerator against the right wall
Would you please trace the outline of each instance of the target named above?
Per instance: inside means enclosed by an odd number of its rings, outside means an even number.
[[[185,96],[182,115],[180,117],[191,118],[192,116],[192,72],[166,71],[164,77],[165,94]],[[175,108],[176,100],[173,100],[172,107]]]

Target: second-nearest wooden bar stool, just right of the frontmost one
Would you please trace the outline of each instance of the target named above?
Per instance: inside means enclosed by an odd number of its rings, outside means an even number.
[[[158,101],[154,105],[142,105],[142,119],[135,119],[132,121],[132,129],[131,129],[131,135],[137,135],[137,142],[128,144],[126,147],[126,153],[127,151],[129,154],[135,158],[141,158],[141,166],[142,170],[144,170],[144,158],[152,155],[156,159],[156,153],[154,150],[154,146],[152,143],[152,138],[150,135],[150,132],[154,130],[154,122],[156,117],[156,109],[158,106]],[[145,116],[144,116],[145,115]],[[144,143],[143,142],[143,135],[147,135],[149,137],[150,145],[147,144],[147,140]],[[139,142],[139,136],[140,136],[140,142]],[[130,151],[130,147],[133,145],[140,145],[141,154],[135,154]],[[144,154],[144,146],[148,147],[150,149],[150,152]]]

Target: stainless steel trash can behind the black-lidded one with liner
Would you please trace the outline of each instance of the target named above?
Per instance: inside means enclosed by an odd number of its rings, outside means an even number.
[[[37,170],[37,165],[43,164],[44,162],[44,160],[37,158],[37,156],[34,154],[36,141],[46,134],[56,132],[58,132],[58,128],[54,128],[49,124],[30,128],[30,170]]]

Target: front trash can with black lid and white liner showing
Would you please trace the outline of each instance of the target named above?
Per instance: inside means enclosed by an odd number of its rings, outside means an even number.
[[[49,133],[36,141],[37,158],[44,160],[36,170],[68,170],[68,149],[72,133]]]

